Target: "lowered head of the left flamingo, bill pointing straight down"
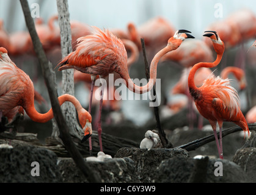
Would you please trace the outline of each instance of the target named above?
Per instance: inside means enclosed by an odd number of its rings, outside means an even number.
[[[92,116],[89,112],[83,110],[82,113],[79,113],[78,118],[84,131],[84,137],[81,140],[81,143],[83,143],[92,135]]]

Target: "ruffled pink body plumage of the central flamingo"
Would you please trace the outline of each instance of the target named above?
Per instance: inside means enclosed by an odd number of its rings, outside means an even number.
[[[127,53],[122,41],[109,30],[92,28],[92,34],[78,38],[76,50],[57,65],[60,71],[75,68],[82,73],[105,75],[114,71],[114,65],[127,63]]]

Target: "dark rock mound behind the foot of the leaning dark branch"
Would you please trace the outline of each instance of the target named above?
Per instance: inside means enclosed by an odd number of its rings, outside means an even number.
[[[97,172],[98,176],[101,178],[101,182],[139,182],[136,177],[134,161],[132,161],[130,158],[105,158],[104,161],[86,161],[86,163],[90,168],[93,169],[93,171]],[[88,182],[80,169],[76,167],[72,158],[61,158],[58,166],[64,182]]]

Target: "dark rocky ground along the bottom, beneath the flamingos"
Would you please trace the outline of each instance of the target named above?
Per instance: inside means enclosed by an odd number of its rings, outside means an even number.
[[[224,137],[224,160],[217,158],[214,141],[196,151],[177,147],[209,134],[212,132],[177,129],[168,134],[174,148],[147,150],[139,149],[138,144],[120,147],[112,158],[84,159],[104,183],[256,182],[254,131],[249,140],[240,132]],[[88,182],[72,158],[58,157],[50,147],[12,143],[12,148],[0,148],[0,182]]]

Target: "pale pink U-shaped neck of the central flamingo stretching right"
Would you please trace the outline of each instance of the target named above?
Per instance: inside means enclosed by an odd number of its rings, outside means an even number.
[[[133,82],[133,80],[131,80],[128,74],[128,68],[120,69],[119,74],[125,80],[126,87],[130,91],[133,91],[134,93],[146,93],[147,91],[152,90],[153,85],[155,85],[155,82],[156,82],[156,69],[157,69],[158,62],[164,54],[172,50],[173,50],[172,45],[168,44],[165,48],[161,49],[161,51],[159,51],[155,55],[150,65],[150,79],[148,80],[147,85],[144,85],[142,87],[136,85]]]

